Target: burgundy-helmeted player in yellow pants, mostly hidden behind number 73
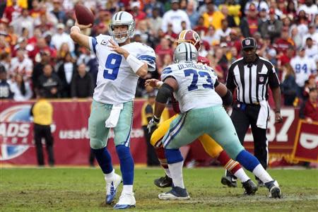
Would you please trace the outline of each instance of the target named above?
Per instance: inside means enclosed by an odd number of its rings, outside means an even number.
[[[183,30],[178,37],[177,43],[180,44],[182,42],[189,42],[192,45],[196,47],[196,49],[199,51],[201,47],[201,39],[194,30]],[[210,61],[206,59],[206,57],[198,57],[198,62],[201,64],[209,65]],[[146,86],[160,86],[162,82],[150,79],[146,81]],[[174,100],[172,96],[172,105],[175,112],[178,114],[179,106],[178,102]],[[158,129],[156,129],[153,132],[153,135],[151,136],[151,144],[155,148],[155,153],[158,156],[158,159],[160,161],[160,165],[163,167],[163,169],[166,172],[165,177],[160,177],[158,179],[155,179],[155,185],[158,187],[171,187],[172,185],[172,179],[169,172],[169,169],[167,167],[167,159],[165,158],[165,153],[163,150],[163,143],[161,140],[163,139],[163,136],[166,134],[167,130],[169,129],[170,123],[177,117],[171,117],[170,119],[166,120],[165,122],[160,123]],[[241,180],[243,187],[245,188],[245,194],[254,194],[257,191],[257,187],[252,182],[251,179],[245,174],[245,171],[242,169],[240,163],[237,163],[236,161],[232,160],[225,151],[223,151],[223,148],[221,148],[216,141],[211,139],[210,136],[207,134],[204,134],[203,136],[199,137],[199,141],[201,141],[202,146],[204,146],[204,149],[208,155],[210,155],[212,158],[216,158],[220,161],[220,163],[225,167],[225,169],[229,170],[233,175],[235,175],[238,179]],[[236,187],[236,181],[222,181],[223,184],[228,184],[228,186]]]

